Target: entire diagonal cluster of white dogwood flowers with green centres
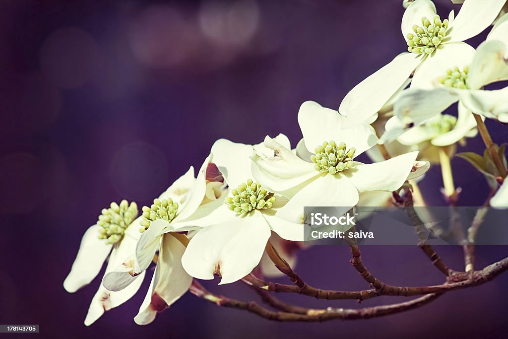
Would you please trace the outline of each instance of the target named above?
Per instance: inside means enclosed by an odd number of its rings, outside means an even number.
[[[220,139],[196,176],[190,167],[137,219],[136,204],[125,200],[102,211],[64,283],[75,292],[108,261],[86,325],[131,298],[152,263],[138,324],[195,290],[193,279],[219,275],[220,284],[229,284],[253,270],[272,274],[273,249],[265,249],[302,247],[304,206],[388,204],[408,180],[418,188],[430,163],[440,164],[451,199],[457,192],[450,157],[478,132],[485,157],[463,158],[491,179],[497,193],[490,204],[508,204],[504,147],[493,143],[484,122],[508,122],[508,87],[485,88],[508,80],[508,16],[497,19],[477,49],[463,42],[493,24],[504,0],[465,0],[457,17],[452,11],[443,20],[430,0],[404,4],[408,52],[355,86],[338,111],[304,102],[297,115],[303,138],[295,148],[282,134],[256,145]],[[443,113],[456,102],[457,113]],[[357,161],[364,152],[373,163]]]

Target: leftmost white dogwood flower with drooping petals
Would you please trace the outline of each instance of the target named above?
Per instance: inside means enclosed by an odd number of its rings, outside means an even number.
[[[102,210],[97,224],[88,228],[83,235],[71,272],[63,282],[63,287],[68,292],[74,293],[88,285],[100,272],[108,256],[105,274],[113,271],[126,256],[134,253],[140,237],[138,228],[141,217],[136,219],[137,214],[136,203],[129,204],[126,200],[120,204],[113,202],[109,208]],[[101,284],[90,303],[85,325],[91,325],[104,312],[129,300],[141,286],[143,276],[141,274],[135,284],[120,292],[110,292]]]

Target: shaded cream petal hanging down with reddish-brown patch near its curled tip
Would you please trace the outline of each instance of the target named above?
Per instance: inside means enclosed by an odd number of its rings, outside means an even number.
[[[151,323],[157,312],[167,309],[189,289],[192,277],[182,267],[184,251],[185,246],[172,234],[163,236],[156,269],[158,278],[154,279],[155,288],[148,290],[149,303],[146,304],[147,296],[134,318],[138,325]]]

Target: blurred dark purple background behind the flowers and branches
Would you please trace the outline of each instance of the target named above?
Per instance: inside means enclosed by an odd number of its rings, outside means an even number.
[[[437,2],[447,16],[448,0]],[[355,84],[405,50],[399,0],[0,2],[0,323],[41,324],[39,336],[123,338],[503,337],[508,274],[387,318],[276,323],[187,294],[146,327],[132,318],[148,288],[91,327],[100,278],[63,290],[83,232],[122,198],[147,204],[221,137],[243,143],[301,138],[300,104],[337,108]],[[470,43],[477,46],[485,33]],[[488,121],[498,143],[508,128]],[[479,138],[468,150],[483,150]],[[460,204],[483,203],[483,176],[454,159]],[[439,168],[422,186],[443,205]],[[462,269],[460,248],[440,255]],[[508,254],[482,247],[478,266]],[[442,282],[412,246],[370,246],[364,261],[395,285]],[[316,246],[297,271],[312,285],[366,288],[343,246]],[[256,298],[240,283],[218,293]],[[359,307],[281,296],[301,305]],[[362,305],[390,302],[378,298]]]

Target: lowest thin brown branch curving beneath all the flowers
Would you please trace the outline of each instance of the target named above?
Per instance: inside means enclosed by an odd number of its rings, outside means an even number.
[[[299,307],[300,311],[305,310],[305,314],[292,312],[274,312],[260,306],[254,301],[245,302],[222,295],[215,295],[207,291],[197,281],[193,282],[190,292],[194,295],[215,303],[218,306],[230,307],[233,309],[244,310],[262,318],[275,321],[302,321],[302,322],[323,322],[334,319],[353,320],[382,317],[400,312],[416,309],[423,306],[440,296],[440,294],[429,294],[414,300],[394,303],[383,306],[365,307],[363,309],[305,309]]]

